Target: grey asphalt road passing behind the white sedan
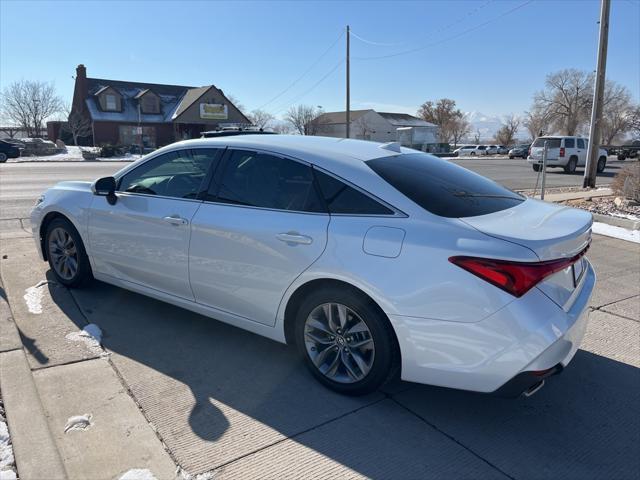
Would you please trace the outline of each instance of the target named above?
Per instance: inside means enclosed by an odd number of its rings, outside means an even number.
[[[608,185],[625,162],[610,159],[607,169],[598,176],[598,184]],[[452,159],[465,168],[489,177],[515,190],[533,189],[537,174],[522,159],[473,158]],[[629,162],[627,162],[629,163]],[[34,162],[0,164],[0,219],[27,218],[36,198],[48,187],[63,180],[95,180],[113,174],[123,162]],[[549,169],[548,187],[582,185],[582,170],[574,175]]]

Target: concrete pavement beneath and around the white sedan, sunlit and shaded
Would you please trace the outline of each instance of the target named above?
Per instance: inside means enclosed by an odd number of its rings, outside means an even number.
[[[21,479],[174,480],[177,467],[225,479],[640,471],[636,244],[594,236],[599,283],[582,350],[518,400],[404,382],[343,397],[315,382],[293,349],[150,298],[100,282],[33,293],[49,278],[30,238],[3,243],[0,254],[11,305],[0,388]],[[89,322],[102,328],[104,348],[68,337]],[[85,413],[91,426],[65,433],[69,417]]]

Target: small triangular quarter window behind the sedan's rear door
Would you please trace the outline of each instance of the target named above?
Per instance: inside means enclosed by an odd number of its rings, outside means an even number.
[[[330,213],[352,215],[394,214],[393,210],[337,178],[317,169],[314,169],[314,173]]]

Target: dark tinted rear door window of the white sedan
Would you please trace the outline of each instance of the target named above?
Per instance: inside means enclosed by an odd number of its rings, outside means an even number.
[[[217,193],[220,202],[326,213],[308,165],[273,155],[235,150],[223,168]]]

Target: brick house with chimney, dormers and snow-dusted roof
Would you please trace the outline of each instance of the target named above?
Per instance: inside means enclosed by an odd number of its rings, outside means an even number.
[[[214,85],[187,87],[87,78],[76,68],[72,112],[91,119],[83,145],[155,148],[200,136],[205,130],[250,120]]]

